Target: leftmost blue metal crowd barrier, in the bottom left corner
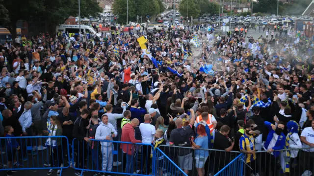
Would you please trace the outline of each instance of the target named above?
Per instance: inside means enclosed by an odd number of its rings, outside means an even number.
[[[55,145],[47,145],[47,149],[40,151],[35,148],[45,146],[47,140]],[[69,168],[66,162],[70,161],[69,140],[66,136],[0,137],[0,151],[5,152],[0,155],[0,162],[12,163],[12,167],[7,165],[0,171],[55,169],[60,170],[61,176],[62,169]]]

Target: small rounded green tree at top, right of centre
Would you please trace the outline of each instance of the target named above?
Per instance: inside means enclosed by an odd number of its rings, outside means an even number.
[[[201,9],[194,0],[182,0],[179,5],[179,12],[183,17],[193,16],[196,18],[200,15]]]

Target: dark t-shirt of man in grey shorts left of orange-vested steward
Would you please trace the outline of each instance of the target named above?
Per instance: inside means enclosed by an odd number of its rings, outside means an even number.
[[[194,132],[190,125],[175,129],[171,131],[170,134],[170,142],[173,143],[175,146],[179,147],[191,147],[190,137],[194,135]],[[180,149],[178,151],[179,156],[184,156],[190,154],[193,150],[190,149]]]

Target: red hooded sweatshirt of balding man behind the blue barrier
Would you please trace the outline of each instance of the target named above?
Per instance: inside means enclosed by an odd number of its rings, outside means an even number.
[[[134,128],[131,126],[130,123],[124,125],[122,128],[122,135],[121,135],[121,141],[122,142],[131,142],[131,143],[141,143],[141,140],[136,140],[135,139],[135,132]],[[132,155],[134,153],[134,147],[132,144],[124,144],[120,145],[120,149],[124,153],[127,153],[129,155]]]

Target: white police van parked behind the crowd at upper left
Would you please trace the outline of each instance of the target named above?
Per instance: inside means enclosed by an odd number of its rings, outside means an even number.
[[[101,34],[97,33],[94,28],[88,26],[88,25],[80,25],[80,31],[83,35],[86,35],[87,39],[90,39],[91,37],[98,36],[101,37]],[[79,34],[79,25],[70,25],[70,24],[61,24],[56,26],[55,32],[62,33],[62,36],[65,37],[66,33],[69,33],[69,37],[71,37],[73,34],[75,37],[78,37]]]

